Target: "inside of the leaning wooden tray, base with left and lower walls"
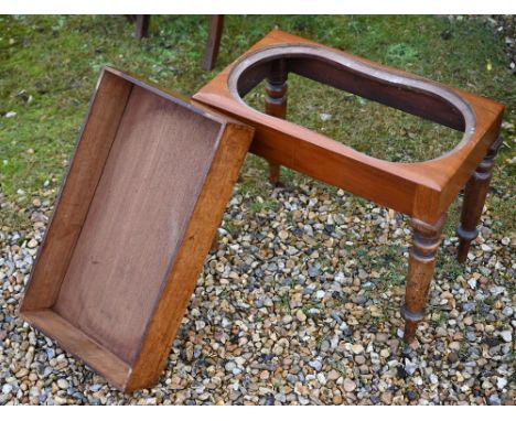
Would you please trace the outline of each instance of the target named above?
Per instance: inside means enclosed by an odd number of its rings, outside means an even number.
[[[111,84],[127,84],[112,77]],[[25,320],[98,371],[109,371],[117,385],[130,374],[173,270],[223,126],[142,86],[130,86],[126,98],[111,105],[123,107],[119,121],[103,122],[117,126],[112,139],[85,123],[68,179],[75,180],[80,161],[95,162],[80,143],[110,142],[109,150],[96,185],[84,190],[83,220],[66,229],[67,215],[79,207],[67,201],[65,185],[46,235],[53,241],[45,238],[39,257],[46,269],[33,272],[21,307]],[[107,111],[103,107],[97,95],[89,116]],[[57,252],[63,244],[69,256]]]

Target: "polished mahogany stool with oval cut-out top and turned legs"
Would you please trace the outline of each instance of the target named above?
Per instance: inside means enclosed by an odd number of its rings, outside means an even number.
[[[463,131],[464,137],[449,152],[424,162],[368,156],[284,120],[289,73]],[[241,99],[264,79],[266,114]],[[405,337],[413,341],[424,317],[445,213],[464,185],[459,261],[466,260],[477,236],[491,170],[502,143],[504,106],[278,30],[227,66],[193,99],[255,128],[250,152],[269,161],[272,183],[278,182],[279,168],[284,165],[411,217],[413,241],[401,315]]]

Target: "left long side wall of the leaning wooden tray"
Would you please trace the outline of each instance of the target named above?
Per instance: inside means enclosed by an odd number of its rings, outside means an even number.
[[[131,83],[103,73],[32,269],[21,312],[51,307],[57,298],[131,88]]]

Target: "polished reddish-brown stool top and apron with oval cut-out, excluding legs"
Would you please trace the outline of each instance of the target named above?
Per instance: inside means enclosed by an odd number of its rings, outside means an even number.
[[[278,48],[283,50],[276,56]],[[316,51],[318,57],[311,57],[307,48]],[[367,156],[323,134],[261,114],[239,98],[266,77],[270,72],[267,63],[275,57],[284,57],[289,72],[467,132],[452,151],[431,161],[395,163]],[[278,30],[193,98],[254,126],[251,152],[430,224],[448,209],[498,136],[504,109],[490,99]]]

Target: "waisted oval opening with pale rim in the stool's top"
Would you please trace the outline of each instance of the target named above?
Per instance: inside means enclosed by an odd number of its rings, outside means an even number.
[[[459,148],[474,130],[473,111],[453,91],[307,45],[244,57],[229,75],[236,99],[264,112],[262,82],[278,60],[289,73],[287,119],[367,155],[428,161]]]

